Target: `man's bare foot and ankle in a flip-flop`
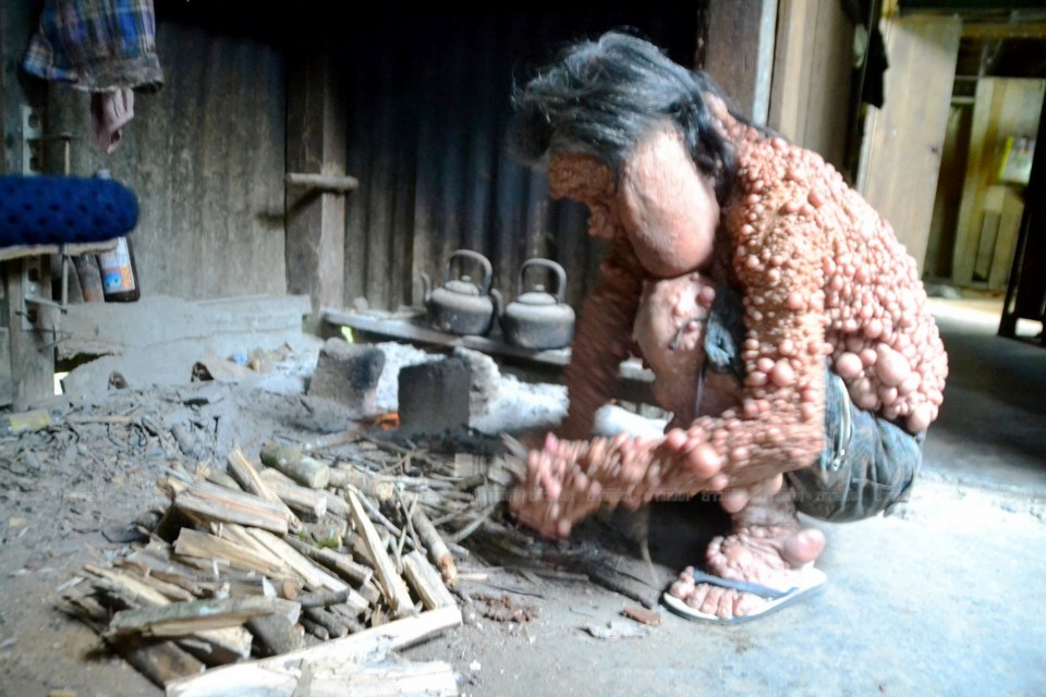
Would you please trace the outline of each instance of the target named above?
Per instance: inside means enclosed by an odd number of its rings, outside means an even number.
[[[708,546],[708,574],[787,590],[803,585],[804,568],[825,549],[825,536],[816,528],[803,528],[795,517],[790,493],[784,490],[769,500],[753,501],[733,516],[733,533],[717,537]],[[669,594],[686,606],[723,620],[757,612],[766,598],[733,588],[694,580],[686,567]]]

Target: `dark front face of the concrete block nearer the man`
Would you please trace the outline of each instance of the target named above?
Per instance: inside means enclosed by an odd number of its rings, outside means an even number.
[[[469,427],[469,366],[447,358],[400,369],[400,432],[438,435]]]

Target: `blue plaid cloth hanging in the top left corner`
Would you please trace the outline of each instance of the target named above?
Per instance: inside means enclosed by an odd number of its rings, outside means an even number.
[[[22,68],[85,91],[159,89],[153,0],[47,0]]]

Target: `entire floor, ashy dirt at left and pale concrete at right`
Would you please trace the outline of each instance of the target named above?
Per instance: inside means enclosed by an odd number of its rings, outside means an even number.
[[[700,562],[722,524],[707,502],[653,510],[653,570],[628,515],[597,516],[565,543],[481,529],[458,559],[472,575],[465,623],[403,655],[448,661],[474,695],[1046,693],[1046,354],[985,327],[942,328],[962,372],[922,480],[890,517],[812,523],[829,538],[820,595],[737,626],[664,609],[658,626],[624,617],[625,607],[657,608],[678,570]],[[221,462],[235,445],[254,455],[271,438],[306,442],[352,415],[250,381],[52,406],[59,425],[0,440],[0,695],[160,695],[56,609],[61,594],[155,521],[168,468]]]

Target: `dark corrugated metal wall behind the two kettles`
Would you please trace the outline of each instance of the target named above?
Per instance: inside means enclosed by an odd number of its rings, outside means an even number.
[[[348,199],[346,299],[418,304],[421,274],[441,283],[451,253],[469,248],[490,259],[507,301],[525,259],[558,260],[579,305],[601,249],[583,207],[549,200],[544,174],[508,157],[509,95],[562,42],[622,25],[692,62],[696,11],[678,7],[356,17],[343,45],[348,171],[361,182]]]

